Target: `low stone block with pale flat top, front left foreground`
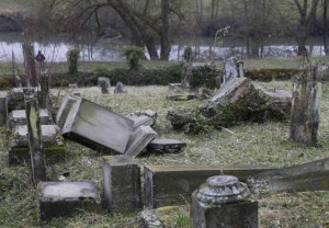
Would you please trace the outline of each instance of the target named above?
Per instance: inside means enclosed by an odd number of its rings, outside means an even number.
[[[100,203],[99,192],[92,182],[41,182],[37,191],[42,221],[69,216],[77,209],[90,210]]]

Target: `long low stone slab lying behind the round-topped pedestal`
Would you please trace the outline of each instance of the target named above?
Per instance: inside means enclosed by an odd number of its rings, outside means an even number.
[[[191,201],[193,191],[209,176],[226,174],[246,181],[252,174],[269,170],[273,168],[268,166],[146,166],[144,167],[145,204],[148,208],[183,205]]]

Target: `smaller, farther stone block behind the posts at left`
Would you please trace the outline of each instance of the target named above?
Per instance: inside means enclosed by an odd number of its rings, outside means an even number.
[[[46,109],[39,110],[39,121],[42,125],[53,124],[52,116],[49,111]],[[26,112],[25,110],[14,110],[8,116],[8,126],[10,129],[14,128],[18,125],[26,125]]]

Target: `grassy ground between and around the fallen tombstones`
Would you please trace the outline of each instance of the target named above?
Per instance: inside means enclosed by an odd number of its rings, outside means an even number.
[[[266,88],[291,89],[290,82],[259,83]],[[166,100],[167,87],[128,87],[126,94],[101,94],[99,88],[78,89],[90,101],[126,115],[151,109],[158,112],[155,130],[159,137],[188,142],[179,155],[138,158],[139,164],[271,164],[277,168],[329,157],[329,84],[324,84],[319,147],[304,148],[288,140],[288,123],[243,124],[230,127],[235,135],[208,129],[196,136],[174,132],[166,121],[169,110],[195,109],[201,101]],[[113,88],[112,88],[113,91]],[[64,92],[63,92],[64,93]],[[61,93],[61,94],[63,94]],[[0,227],[37,227],[36,194],[29,166],[8,167],[5,129],[0,140]],[[102,156],[68,141],[67,158],[47,166],[50,180],[69,172],[69,181],[92,180],[101,191]],[[329,193],[280,194],[254,196],[260,202],[260,227],[328,227]],[[189,205],[167,216],[167,227],[189,227]],[[168,213],[170,214],[170,213]],[[106,212],[80,212],[73,217],[53,219],[48,227],[138,227],[137,215],[110,217]]]

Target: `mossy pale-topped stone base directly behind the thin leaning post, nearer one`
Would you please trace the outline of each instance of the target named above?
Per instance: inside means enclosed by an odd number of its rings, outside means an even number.
[[[56,130],[55,125],[42,125],[42,140],[47,160],[57,160],[65,157],[65,141]],[[9,148],[10,164],[30,161],[26,125],[18,125],[9,133]]]

